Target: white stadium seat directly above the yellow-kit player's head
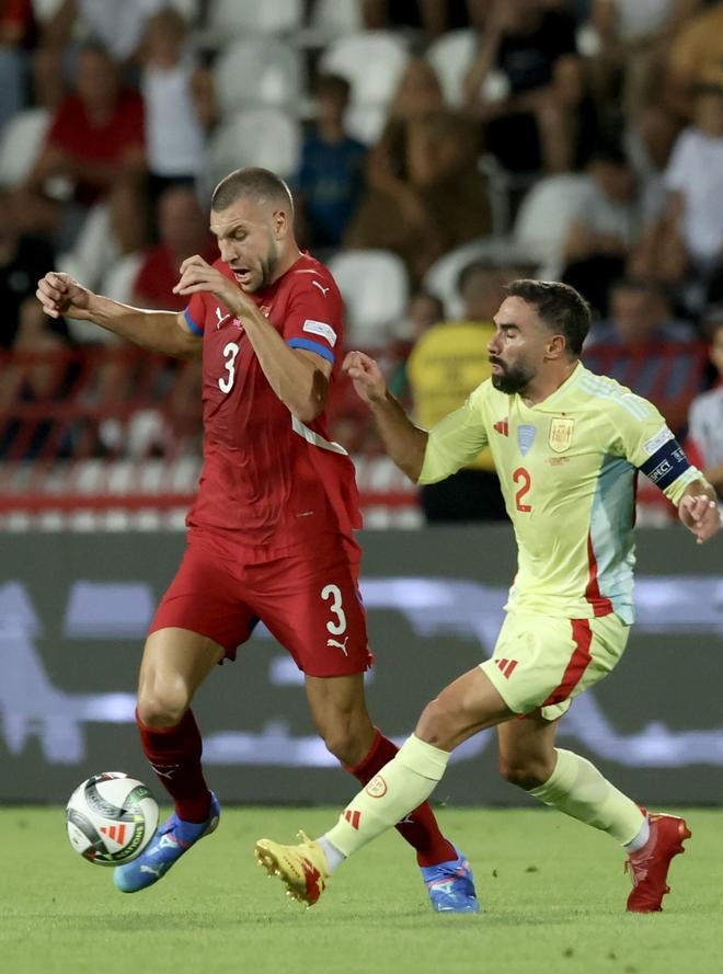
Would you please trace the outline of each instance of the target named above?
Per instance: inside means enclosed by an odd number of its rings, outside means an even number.
[[[546,176],[523,199],[513,237],[521,250],[540,260],[542,277],[560,275],[567,230],[588,185],[588,177],[578,173]]]

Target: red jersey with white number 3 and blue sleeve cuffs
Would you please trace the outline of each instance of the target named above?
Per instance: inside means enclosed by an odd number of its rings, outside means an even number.
[[[236,283],[223,261],[214,266]],[[303,254],[265,290],[250,295],[292,348],[315,352],[338,371],[343,303],[333,277]],[[210,294],[185,310],[204,335],[204,467],[186,524],[250,548],[318,543],[362,526],[354,466],[330,440],[322,413],[306,425],[278,399],[244,329]]]

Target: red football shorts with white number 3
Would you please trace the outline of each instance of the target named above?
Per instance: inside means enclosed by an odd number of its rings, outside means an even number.
[[[261,620],[308,676],[363,673],[374,663],[358,588],[358,548],[341,536],[319,547],[238,558],[192,538],[149,633],[188,629],[229,660]]]

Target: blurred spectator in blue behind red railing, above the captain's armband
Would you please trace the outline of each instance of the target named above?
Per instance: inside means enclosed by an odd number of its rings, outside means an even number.
[[[677,432],[700,389],[701,353],[696,330],[673,318],[665,293],[628,278],[613,285],[610,318],[593,325],[583,357],[587,368],[650,399]]]

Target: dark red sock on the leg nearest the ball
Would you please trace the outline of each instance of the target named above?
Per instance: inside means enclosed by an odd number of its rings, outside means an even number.
[[[203,745],[193,712],[186,710],[174,727],[148,727],[138,712],[136,723],[144,754],[175,802],[179,818],[205,822],[210,810],[210,792],[200,768]]]

